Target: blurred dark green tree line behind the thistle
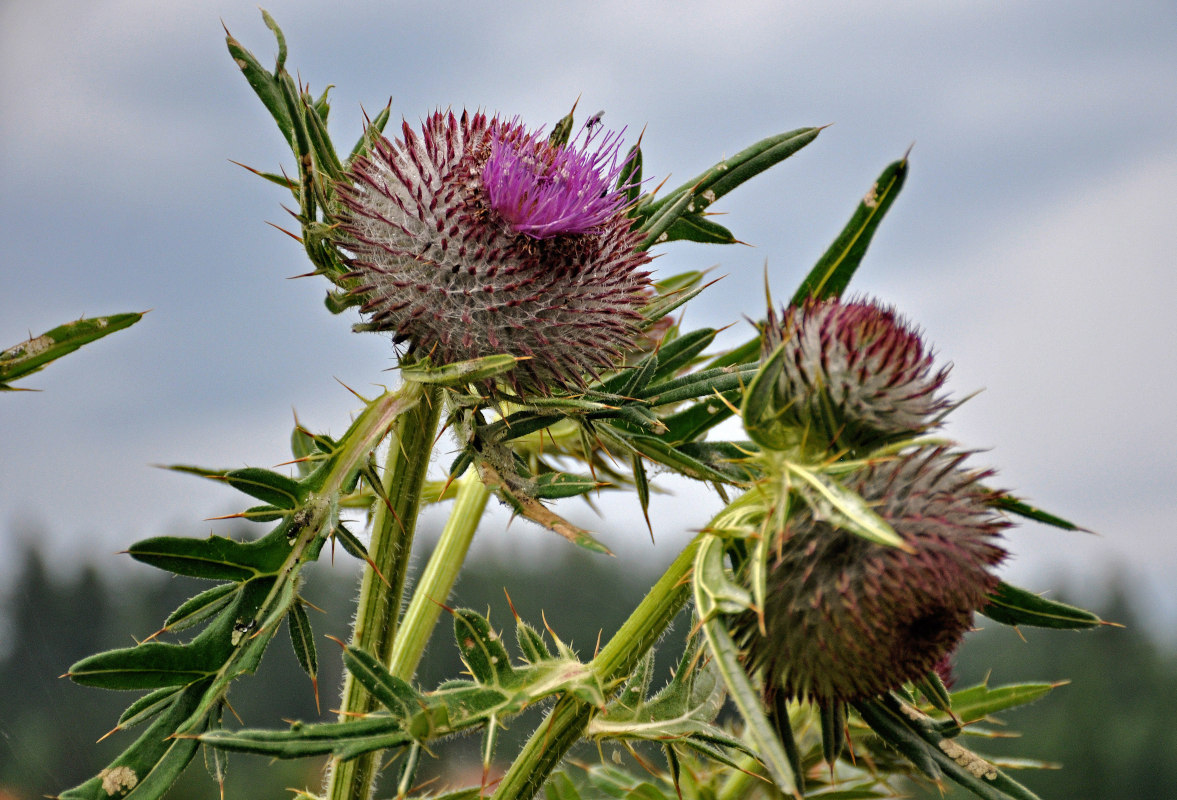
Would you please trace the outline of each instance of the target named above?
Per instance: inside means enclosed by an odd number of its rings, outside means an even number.
[[[623,568],[626,565],[616,559],[572,547],[558,553],[554,560],[532,565],[474,559],[451,605],[490,609],[491,621],[510,631],[506,588],[521,616],[537,625],[546,619],[561,639],[571,640],[587,658],[597,645],[598,627],[607,638],[656,575],[652,568],[634,572]],[[172,609],[207,587],[195,580],[161,579],[146,567],[111,576],[86,565],[65,578],[48,568],[46,556],[35,546],[27,546],[19,558],[20,567],[2,589],[0,606],[0,800],[52,795],[74,786],[101,769],[138,735],[139,729],[119,732],[95,745],[137,695],[82,688],[58,676],[84,655],[131,645],[132,635],[151,635]],[[330,709],[338,705],[340,658],[326,635],[348,635],[347,608],[358,571],[341,552],[333,567],[328,559],[324,561],[314,567],[304,589],[306,600],[327,612],[312,613],[311,620],[319,647],[319,707],[311,680],[281,634],[262,662],[260,679],[246,679],[230,694],[233,712],[251,726],[279,727],[291,719],[333,716]],[[1106,606],[1095,611],[1104,619],[1124,624],[1124,628],[1086,633],[1026,631],[1028,642],[1023,642],[1016,632],[991,625],[966,641],[958,659],[958,687],[986,675],[993,685],[1071,681],[1029,711],[1011,713],[1003,720],[1020,738],[971,742],[984,754],[1016,754],[1063,764],[1060,771],[1018,775],[1045,800],[1173,796],[1177,727],[1169,714],[1177,699],[1177,662],[1137,622],[1123,587],[1111,586],[1108,596]],[[671,635],[680,640],[686,627],[684,616]],[[678,642],[664,644],[660,674],[669,679]],[[448,626],[440,625],[419,682],[434,686],[460,669]],[[526,735],[539,713],[533,709],[533,719],[512,725],[499,752],[513,752],[513,741]],[[433,786],[477,782],[478,744],[477,738],[448,744],[447,755],[465,756],[470,773],[444,776]],[[586,751],[584,758],[592,760],[597,755]],[[285,798],[290,794],[284,787],[318,788],[320,768],[318,760],[271,764],[234,755],[225,796]],[[428,780],[430,773],[421,779]],[[946,795],[936,789],[916,793],[926,798],[971,796],[951,789]],[[217,798],[219,789],[208,772],[194,764],[169,796]]]

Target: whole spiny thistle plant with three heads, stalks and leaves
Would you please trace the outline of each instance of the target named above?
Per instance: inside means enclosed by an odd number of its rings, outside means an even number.
[[[148,640],[69,668],[79,684],[141,692],[115,731],[144,729],[60,796],[161,798],[201,749],[219,780],[233,752],[326,756],[322,785],[298,796],[332,800],[373,796],[395,762],[395,795],[426,796],[415,776],[431,745],[466,735],[481,739],[484,779],[440,796],[871,798],[923,776],[982,798],[1032,798],[960,740],[1052,685],[949,692],[944,664],[975,614],[1018,626],[1100,620],[1000,580],[1013,516],[1075,526],[969,466],[969,448],[939,435],[955,406],[920,334],[873,301],[840,299],[906,156],[878,176],[787,306],[770,302],[745,345],[714,353],[717,331],[674,318],[707,288],[703,276],[651,274],[651,251],[736,242],[709,207],[819,128],[758,141],[665,193],[643,175],[640,142],[625,148],[624,129],[599,116],[578,127],[574,106],[547,133],[438,112],[395,139],[384,135],[385,108],[341,154],[327,93],[294,80],[281,31],[264,19],[278,41],[273,69],[232,35],[227,45],[295,168],[254,172],[290,193],[291,233],[330,284],[327,308],[358,312],[357,331],[391,334],[400,384],[365,400],[339,436],[297,427],[290,473],[175,467],[248,495],[239,516],[271,527],[250,541],[131,545],[138,561],[213,585]],[[716,438],[737,416],[747,438]],[[431,480],[435,447],[457,455]],[[606,558],[557,501],[629,494],[649,520],[652,471],[725,505],[698,520],[592,658],[520,618],[512,653],[484,615],[447,605],[492,496]],[[420,511],[450,501],[410,589]],[[265,674],[284,622],[317,675],[324,656],[301,573],[328,542],[364,564],[334,719],[233,722],[224,712],[237,678]],[[680,615],[692,635],[670,682],[651,689],[653,648]],[[466,673],[420,686],[417,665],[443,619]],[[729,702],[734,718],[720,715]],[[537,704],[546,719],[503,753],[498,731]],[[649,772],[571,766],[583,741],[630,748]],[[658,751],[664,768],[651,760]]]

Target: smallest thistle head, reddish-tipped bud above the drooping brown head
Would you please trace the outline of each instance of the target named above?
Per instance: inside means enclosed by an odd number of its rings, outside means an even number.
[[[777,419],[822,446],[852,452],[916,435],[949,409],[947,368],[932,369],[919,333],[867,300],[810,300],[778,321],[770,309],[763,359],[784,348]]]

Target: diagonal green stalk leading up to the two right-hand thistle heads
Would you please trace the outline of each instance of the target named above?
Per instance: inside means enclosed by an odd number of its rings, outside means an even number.
[[[683,548],[650,593],[588,665],[605,686],[629,676],[691,596],[687,575],[705,529]],[[494,800],[530,800],[585,732],[594,708],[564,695],[503,776]]]

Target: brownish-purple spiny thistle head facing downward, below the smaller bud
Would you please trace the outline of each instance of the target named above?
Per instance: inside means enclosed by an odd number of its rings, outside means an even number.
[[[819,705],[877,696],[923,678],[972,626],[997,585],[1008,526],[965,456],[922,448],[845,479],[907,545],[878,545],[794,505],[766,532],[764,633],[754,612],[734,633],[766,691]]]

